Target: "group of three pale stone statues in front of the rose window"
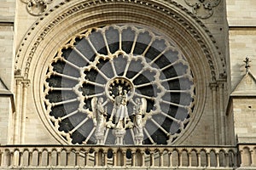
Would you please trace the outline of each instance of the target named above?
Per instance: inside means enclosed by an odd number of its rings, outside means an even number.
[[[93,115],[95,117],[95,126],[96,126],[96,144],[104,144],[104,138],[106,138],[105,129],[113,129],[113,135],[115,136],[115,144],[122,145],[125,144],[124,138],[126,129],[133,128],[133,138],[134,144],[143,144],[143,127],[145,121],[143,116],[146,113],[147,109],[147,100],[146,99],[136,99],[135,106],[133,108],[133,119],[129,117],[127,102],[128,94],[127,90],[119,86],[117,89],[117,95],[113,97],[113,111],[111,116],[107,121],[107,108],[103,108],[102,98],[92,99],[91,106]],[[114,121],[113,121],[114,118]],[[114,122],[114,123],[113,123]]]

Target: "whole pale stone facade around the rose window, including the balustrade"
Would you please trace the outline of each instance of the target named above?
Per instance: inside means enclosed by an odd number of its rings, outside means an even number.
[[[253,0],[4,0],[0,7],[0,167],[253,168],[255,14]],[[186,57],[195,82],[189,124],[166,146],[72,148],[45,115],[49,64],[65,45],[72,47],[70,40],[82,31],[124,23],[150,26],[170,37]],[[21,144],[20,149],[15,144]],[[26,150],[27,144],[42,146]],[[67,150],[59,144],[66,144]],[[113,151],[111,160],[108,150]],[[127,153],[131,158],[126,162]],[[51,163],[44,161],[46,155]]]

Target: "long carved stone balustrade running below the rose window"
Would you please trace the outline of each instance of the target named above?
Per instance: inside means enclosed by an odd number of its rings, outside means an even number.
[[[233,146],[0,146],[0,167],[14,169],[234,169],[239,162],[237,157],[237,149]]]

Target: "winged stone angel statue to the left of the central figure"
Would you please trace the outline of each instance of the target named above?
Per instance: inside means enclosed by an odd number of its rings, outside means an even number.
[[[107,107],[102,106],[103,98],[93,98],[91,102],[94,118],[96,118],[96,144],[104,144],[106,130]]]

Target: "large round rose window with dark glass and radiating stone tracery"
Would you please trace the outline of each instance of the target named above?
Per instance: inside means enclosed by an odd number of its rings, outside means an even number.
[[[70,144],[172,144],[193,113],[187,60],[147,26],[81,32],[46,74],[46,114]]]

